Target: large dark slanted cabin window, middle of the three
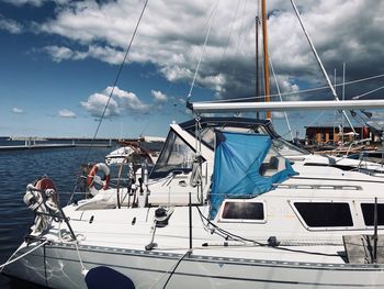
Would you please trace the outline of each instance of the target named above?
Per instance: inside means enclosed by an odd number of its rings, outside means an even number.
[[[295,202],[295,208],[308,226],[353,226],[348,203]]]

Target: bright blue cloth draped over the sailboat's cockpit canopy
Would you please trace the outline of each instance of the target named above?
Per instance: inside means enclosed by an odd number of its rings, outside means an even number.
[[[260,167],[272,145],[269,135],[216,132],[215,163],[211,191],[211,219],[225,198],[251,198],[296,175],[285,159],[285,169],[271,177],[260,175]]]

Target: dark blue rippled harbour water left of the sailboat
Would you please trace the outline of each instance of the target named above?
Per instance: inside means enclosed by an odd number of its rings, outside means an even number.
[[[0,137],[1,138],[1,137]],[[4,145],[0,140],[0,145]],[[9,142],[8,142],[9,143]],[[43,175],[52,178],[60,203],[66,204],[81,164],[103,162],[112,148],[55,148],[0,152],[0,264],[23,241],[34,215],[23,202],[27,184]],[[89,152],[88,159],[86,155]],[[0,275],[0,289],[38,288],[15,282]]]

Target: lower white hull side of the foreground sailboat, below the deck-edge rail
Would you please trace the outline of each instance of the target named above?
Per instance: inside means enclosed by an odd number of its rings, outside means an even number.
[[[22,252],[22,251],[21,251]],[[135,288],[163,288],[182,254],[80,246],[89,270],[106,266]],[[21,254],[21,253],[20,253]],[[20,270],[24,270],[21,274]],[[87,288],[74,245],[46,246],[7,267],[8,275],[53,288]],[[113,284],[113,280],[111,280]],[[167,288],[383,288],[383,265],[314,264],[185,255]]]

